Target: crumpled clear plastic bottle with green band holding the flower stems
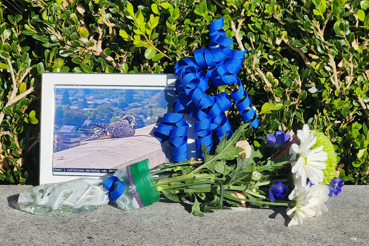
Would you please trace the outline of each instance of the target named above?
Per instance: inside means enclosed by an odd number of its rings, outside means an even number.
[[[118,208],[137,209],[159,201],[148,159],[119,169],[113,175],[125,186],[123,194],[114,201]],[[31,187],[23,190],[18,198],[22,210],[58,218],[90,212],[108,202],[103,180],[89,178]]]

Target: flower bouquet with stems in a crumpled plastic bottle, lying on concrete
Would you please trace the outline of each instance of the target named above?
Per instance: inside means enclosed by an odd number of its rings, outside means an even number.
[[[117,170],[105,181],[80,178],[28,188],[18,204],[30,213],[65,217],[114,202],[124,210],[159,201],[192,202],[192,213],[203,216],[232,206],[286,206],[291,225],[327,211],[324,202],[341,192],[335,176],[337,155],[330,139],[304,125],[297,136],[277,131],[255,150],[244,140],[247,124],[230,139],[222,138],[213,155],[163,163],[148,169],[148,160]],[[242,139],[242,140],[240,140]],[[162,175],[164,173],[164,175]],[[154,178],[153,178],[154,176]]]

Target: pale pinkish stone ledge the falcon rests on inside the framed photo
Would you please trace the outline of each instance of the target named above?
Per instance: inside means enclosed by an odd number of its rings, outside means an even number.
[[[54,153],[54,168],[119,169],[146,158],[150,167],[168,162],[170,150],[152,134],[157,125],[136,129],[128,138],[101,139],[81,142],[80,146]]]

